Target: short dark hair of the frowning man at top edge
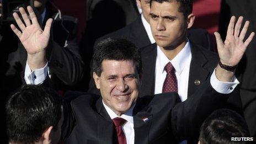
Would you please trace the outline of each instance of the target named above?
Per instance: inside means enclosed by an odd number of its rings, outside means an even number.
[[[193,10],[193,0],[151,0],[150,7],[151,7],[152,1],[155,1],[158,3],[176,1],[180,3],[179,12],[183,13],[184,17],[187,17],[189,14],[191,14]]]

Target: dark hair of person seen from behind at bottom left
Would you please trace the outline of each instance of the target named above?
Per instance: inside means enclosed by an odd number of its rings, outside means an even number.
[[[57,130],[62,99],[49,88],[26,85],[6,103],[7,134],[10,142],[34,143],[50,126]]]

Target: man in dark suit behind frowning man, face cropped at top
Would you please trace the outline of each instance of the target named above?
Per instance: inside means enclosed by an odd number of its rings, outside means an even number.
[[[134,43],[138,48],[146,47],[156,42],[153,38],[150,28],[150,0],[136,0],[136,2],[138,7],[142,10],[140,17],[138,17],[135,22],[132,22],[131,24],[125,26],[125,28],[102,36],[95,41],[95,45],[97,45],[100,40],[104,40],[107,38],[127,39]],[[198,44],[205,49],[211,50],[211,42],[209,34],[206,30],[190,29],[188,30],[188,37],[191,41],[195,42],[195,44]],[[95,88],[93,78],[90,79],[88,92],[99,94],[99,90]]]

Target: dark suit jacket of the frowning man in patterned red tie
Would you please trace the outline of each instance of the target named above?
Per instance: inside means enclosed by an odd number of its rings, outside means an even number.
[[[210,78],[211,73],[217,66],[219,58],[215,52],[204,49],[203,47],[190,42],[191,46],[191,63],[189,70],[188,98],[193,95],[196,90],[201,89],[201,85]],[[152,44],[141,48],[142,57],[142,86],[140,89],[140,97],[143,95],[154,94],[155,68],[157,57],[157,45]],[[196,85],[195,81],[200,81]],[[228,99],[227,108],[231,108],[243,115],[241,97],[237,91],[233,92],[232,97]]]

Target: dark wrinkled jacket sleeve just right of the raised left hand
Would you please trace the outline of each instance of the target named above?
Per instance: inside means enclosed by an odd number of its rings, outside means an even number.
[[[71,22],[72,20],[63,20],[63,25],[69,32],[63,36],[62,33],[57,33],[58,28],[56,28],[62,25],[52,26],[55,33],[51,32],[51,40],[47,47],[50,73],[55,74],[58,79],[69,86],[76,84],[83,76],[83,61],[76,40],[77,24]]]

